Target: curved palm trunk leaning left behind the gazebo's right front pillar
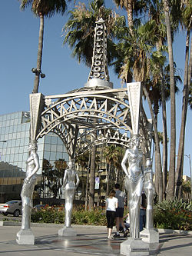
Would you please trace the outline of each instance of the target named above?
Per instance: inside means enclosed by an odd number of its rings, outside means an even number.
[[[151,118],[153,121],[153,125],[154,125],[154,141],[155,141],[155,147],[156,147],[156,154],[157,154],[157,166],[156,166],[156,170],[155,170],[155,174],[157,174],[158,177],[158,198],[159,201],[161,202],[163,200],[163,177],[162,177],[162,171],[161,171],[161,151],[160,151],[160,145],[159,145],[159,136],[158,136],[158,132],[157,132],[157,125],[154,119],[154,112],[153,112],[153,108],[151,106],[151,101],[147,92],[147,89],[145,88],[145,86],[143,86],[143,90],[144,90],[144,95],[147,98],[147,102],[149,105],[149,109],[151,112]],[[156,191],[157,192],[157,191]]]

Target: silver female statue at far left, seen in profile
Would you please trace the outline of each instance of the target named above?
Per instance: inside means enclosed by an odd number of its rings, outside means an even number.
[[[37,171],[40,167],[37,151],[37,144],[35,142],[28,145],[29,157],[26,161],[26,178],[22,186],[22,230],[30,229],[31,224],[31,208],[32,196],[37,178]]]

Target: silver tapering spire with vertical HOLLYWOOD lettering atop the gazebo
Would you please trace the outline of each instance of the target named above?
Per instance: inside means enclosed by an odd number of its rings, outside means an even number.
[[[109,81],[108,75],[106,26],[102,18],[95,23],[91,71],[88,76],[88,82],[84,86],[113,88],[113,83]]]

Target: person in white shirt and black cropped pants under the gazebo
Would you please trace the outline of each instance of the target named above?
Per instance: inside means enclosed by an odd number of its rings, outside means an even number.
[[[115,198],[115,191],[111,190],[106,200],[106,217],[108,221],[108,239],[113,239],[111,237],[112,229],[114,226],[115,212],[118,208],[118,198]]]

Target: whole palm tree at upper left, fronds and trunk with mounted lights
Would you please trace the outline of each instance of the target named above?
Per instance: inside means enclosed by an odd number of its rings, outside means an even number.
[[[25,10],[26,7],[31,6],[31,11],[40,18],[39,36],[38,36],[38,58],[37,67],[32,68],[35,73],[35,81],[33,93],[38,92],[39,77],[44,78],[45,75],[41,73],[41,60],[43,50],[43,34],[44,34],[44,18],[52,17],[55,12],[63,15],[67,8],[65,0],[19,0],[21,2],[21,9]],[[71,0],[68,0],[71,1]]]

